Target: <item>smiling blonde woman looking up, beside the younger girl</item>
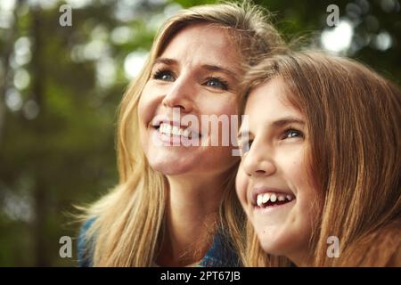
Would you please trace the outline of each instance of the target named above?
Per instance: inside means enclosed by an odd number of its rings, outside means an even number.
[[[241,206],[238,159],[182,116],[236,114],[243,66],[282,48],[250,4],[184,10],[161,28],[119,110],[119,185],[87,209],[79,264],[235,266]],[[184,145],[188,138],[201,145]]]

